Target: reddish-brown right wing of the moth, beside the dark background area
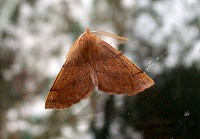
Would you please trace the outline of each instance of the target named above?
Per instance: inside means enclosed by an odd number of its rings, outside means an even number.
[[[107,93],[134,95],[154,84],[136,65],[106,42],[99,44],[101,54],[94,60],[98,89]]]

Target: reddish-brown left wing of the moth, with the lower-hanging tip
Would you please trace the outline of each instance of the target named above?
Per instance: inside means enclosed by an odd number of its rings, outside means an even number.
[[[94,90],[87,64],[67,61],[48,93],[45,108],[63,109],[89,96]]]

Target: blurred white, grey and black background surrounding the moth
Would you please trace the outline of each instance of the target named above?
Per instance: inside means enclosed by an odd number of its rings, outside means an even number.
[[[199,0],[1,0],[1,139],[199,139]],[[45,99],[86,27],[156,85],[136,96],[95,91],[65,110]]]

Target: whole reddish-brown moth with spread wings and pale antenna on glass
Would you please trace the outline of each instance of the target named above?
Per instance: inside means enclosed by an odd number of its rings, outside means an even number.
[[[122,53],[94,33],[126,41],[106,32],[90,32],[78,37],[69,50],[66,61],[48,93],[46,109],[64,109],[87,98],[94,90],[109,94],[144,91],[154,81],[131,63]]]

